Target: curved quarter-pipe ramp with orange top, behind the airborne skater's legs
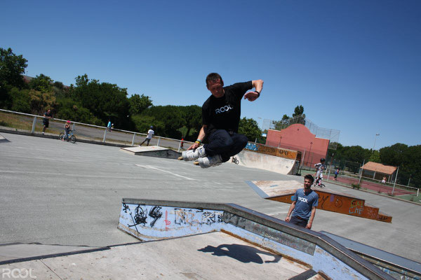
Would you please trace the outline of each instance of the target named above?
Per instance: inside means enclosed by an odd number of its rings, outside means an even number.
[[[232,157],[236,165],[265,169],[281,174],[295,174],[298,170],[298,151],[248,143],[246,148]]]

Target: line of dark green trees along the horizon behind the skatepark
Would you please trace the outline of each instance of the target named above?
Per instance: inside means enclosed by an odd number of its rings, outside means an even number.
[[[69,86],[42,73],[24,80],[26,67],[27,59],[22,55],[15,55],[11,48],[0,48],[0,108],[34,115],[51,109],[55,118],[102,126],[111,120],[116,128],[143,133],[153,125],[159,136],[184,137],[186,141],[196,140],[199,134],[200,106],[154,106],[151,97],[145,94],[128,97],[126,88],[88,78],[86,74],[77,76],[75,83]],[[295,107],[292,117],[284,114],[272,125],[281,130],[292,123],[305,125],[301,105]],[[246,135],[249,141],[265,144],[265,137],[253,118],[241,118],[239,133]],[[410,181],[411,186],[421,183],[420,145],[394,144],[371,151],[361,146],[338,144],[336,150],[328,151],[329,158],[342,167],[346,162],[358,162],[355,166],[359,168],[364,160],[399,166],[398,183],[406,185]]]

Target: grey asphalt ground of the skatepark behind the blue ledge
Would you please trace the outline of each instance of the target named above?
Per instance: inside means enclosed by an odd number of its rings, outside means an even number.
[[[262,200],[245,181],[302,181],[231,163],[201,169],[192,162],[130,155],[116,147],[1,135],[10,141],[0,142],[1,244],[95,247],[136,242],[116,228],[122,197],[232,202],[283,219],[290,205]],[[365,199],[393,220],[382,223],[317,211],[313,230],[420,260],[420,206],[327,185]]]

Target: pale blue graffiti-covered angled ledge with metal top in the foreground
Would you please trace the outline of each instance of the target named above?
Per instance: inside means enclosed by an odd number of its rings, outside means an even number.
[[[393,279],[326,235],[236,204],[123,198],[118,228],[142,241],[224,232],[305,265],[316,279]]]

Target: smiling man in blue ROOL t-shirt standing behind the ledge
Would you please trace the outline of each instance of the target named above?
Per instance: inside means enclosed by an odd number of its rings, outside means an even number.
[[[319,195],[312,190],[313,182],[312,175],[307,174],[304,177],[304,188],[297,190],[293,195],[293,203],[285,218],[286,222],[300,225],[300,227],[309,230],[312,228],[316,206],[319,204]]]

